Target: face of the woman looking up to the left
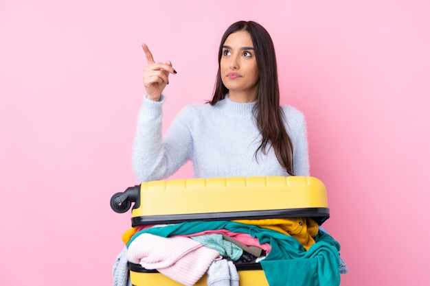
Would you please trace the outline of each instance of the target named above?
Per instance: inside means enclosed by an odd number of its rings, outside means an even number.
[[[246,31],[230,34],[223,45],[220,60],[223,84],[229,98],[236,102],[253,102],[258,91],[258,67],[251,36]]]

